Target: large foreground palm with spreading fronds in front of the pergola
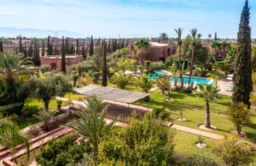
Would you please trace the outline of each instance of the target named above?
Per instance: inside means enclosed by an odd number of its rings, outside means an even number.
[[[94,100],[96,99],[95,95],[92,95],[92,97]],[[95,107],[92,109],[82,108],[82,112],[75,113],[79,118],[81,118],[81,121],[73,119],[66,125],[62,126],[65,128],[72,128],[79,134],[85,136],[88,139],[88,142],[94,146],[95,152],[97,152],[100,138],[107,134],[119,117],[115,118],[109,125],[105,125],[105,115],[107,113],[108,105],[102,109],[102,113],[99,116]]]

